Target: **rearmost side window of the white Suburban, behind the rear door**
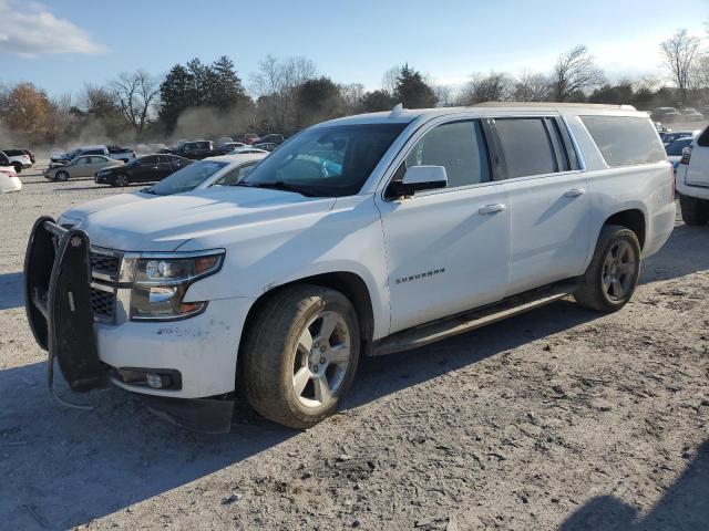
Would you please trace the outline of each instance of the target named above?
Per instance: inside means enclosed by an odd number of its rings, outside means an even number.
[[[648,118],[580,116],[610,167],[666,160],[665,148]]]

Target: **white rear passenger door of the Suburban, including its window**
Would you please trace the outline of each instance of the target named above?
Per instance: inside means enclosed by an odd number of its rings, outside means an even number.
[[[556,116],[492,121],[511,212],[506,295],[583,274],[590,237],[586,174]]]

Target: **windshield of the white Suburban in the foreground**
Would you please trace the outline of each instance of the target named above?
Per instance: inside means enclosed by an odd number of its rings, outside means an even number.
[[[405,126],[384,123],[306,129],[265,158],[240,184],[316,197],[354,195]]]

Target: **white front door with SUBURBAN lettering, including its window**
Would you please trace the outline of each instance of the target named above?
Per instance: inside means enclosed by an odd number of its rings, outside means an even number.
[[[395,173],[445,167],[448,187],[378,198],[387,246],[391,332],[496,302],[507,287],[506,185],[492,180],[477,119],[428,131]]]

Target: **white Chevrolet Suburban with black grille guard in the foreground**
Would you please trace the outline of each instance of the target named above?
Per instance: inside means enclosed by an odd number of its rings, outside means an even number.
[[[672,231],[674,195],[633,107],[351,116],[301,132],[235,187],[69,230],[41,218],[28,315],[75,391],[112,382],[209,430],[228,427],[240,391],[305,428],[336,409],[361,356],[567,295],[619,310]]]

